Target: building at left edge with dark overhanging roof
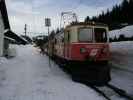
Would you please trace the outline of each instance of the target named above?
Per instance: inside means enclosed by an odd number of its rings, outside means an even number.
[[[0,0],[0,56],[8,55],[10,43],[27,44],[24,39],[12,32],[5,0]]]

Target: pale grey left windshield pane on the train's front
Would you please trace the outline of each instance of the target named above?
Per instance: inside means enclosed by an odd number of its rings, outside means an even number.
[[[79,30],[79,41],[80,42],[92,42],[93,31],[91,28],[82,28]]]

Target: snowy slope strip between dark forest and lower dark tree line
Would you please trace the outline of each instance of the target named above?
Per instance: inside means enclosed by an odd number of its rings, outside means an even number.
[[[109,37],[114,38],[115,36],[118,38],[121,34],[124,34],[126,37],[133,36],[133,25],[126,26],[122,29],[116,29],[109,32]]]

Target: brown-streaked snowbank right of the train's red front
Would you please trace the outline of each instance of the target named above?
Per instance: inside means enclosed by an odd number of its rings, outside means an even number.
[[[111,63],[118,68],[133,72],[133,41],[114,42],[111,47]]]

